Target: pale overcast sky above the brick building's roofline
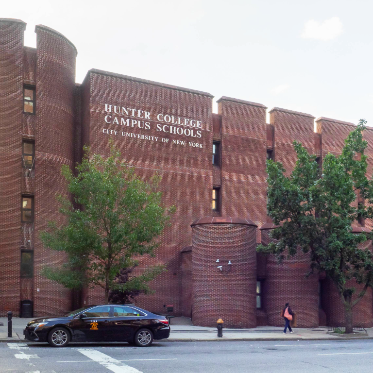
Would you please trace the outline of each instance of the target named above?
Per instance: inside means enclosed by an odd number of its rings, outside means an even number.
[[[76,81],[98,68],[373,126],[373,1],[4,1],[0,17],[64,34]]]

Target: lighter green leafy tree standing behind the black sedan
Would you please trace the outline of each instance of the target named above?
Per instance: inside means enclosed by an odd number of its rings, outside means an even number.
[[[110,290],[148,292],[148,282],[165,270],[148,267],[125,283],[117,277],[120,270],[138,265],[136,256],[154,256],[159,246],[156,238],[175,210],[162,204],[162,193],[157,191],[160,177],[153,176],[151,183],[143,181],[120,161],[120,155],[113,145],[106,159],[85,147],[77,176],[64,166],[62,173],[74,203],[57,198],[67,225],[51,221],[49,230],[40,235],[46,247],[68,255],[63,266],[44,267],[42,274],[67,288],[99,286],[106,303]]]

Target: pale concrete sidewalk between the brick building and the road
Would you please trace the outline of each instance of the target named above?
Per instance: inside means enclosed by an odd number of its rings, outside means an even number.
[[[33,319],[13,318],[13,338],[7,338],[8,321],[0,318],[4,326],[0,326],[0,342],[21,342],[23,329]],[[223,337],[217,337],[217,329],[192,325],[190,319],[175,317],[170,323],[171,333],[169,341],[221,341],[221,340],[346,340],[349,338],[327,334],[327,327],[320,326],[314,329],[293,328],[294,333],[283,334],[282,327],[258,326],[254,329],[223,329]],[[373,339],[373,328],[367,329],[368,336],[362,335],[361,339]]]

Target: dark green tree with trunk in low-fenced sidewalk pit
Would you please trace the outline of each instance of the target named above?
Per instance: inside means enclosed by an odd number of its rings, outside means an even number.
[[[352,333],[352,309],[373,286],[373,257],[359,245],[372,233],[352,233],[351,224],[359,217],[373,218],[373,182],[366,177],[367,142],[361,119],[339,156],[327,154],[322,174],[315,155],[294,141],[295,169],[289,177],[280,162],[267,161],[268,211],[274,224],[273,242],[258,251],[275,254],[281,262],[297,250],[310,255],[310,272],[325,272],[336,285],[345,309],[346,333]],[[365,203],[356,203],[356,195]],[[354,279],[355,281],[350,281]],[[353,297],[361,284],[362,290]]]

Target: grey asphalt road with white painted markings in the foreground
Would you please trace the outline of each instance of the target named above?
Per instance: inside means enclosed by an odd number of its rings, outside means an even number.
[[[372,372],[373,340],[126,343],[51,348],[0,343],[0,372]]]

